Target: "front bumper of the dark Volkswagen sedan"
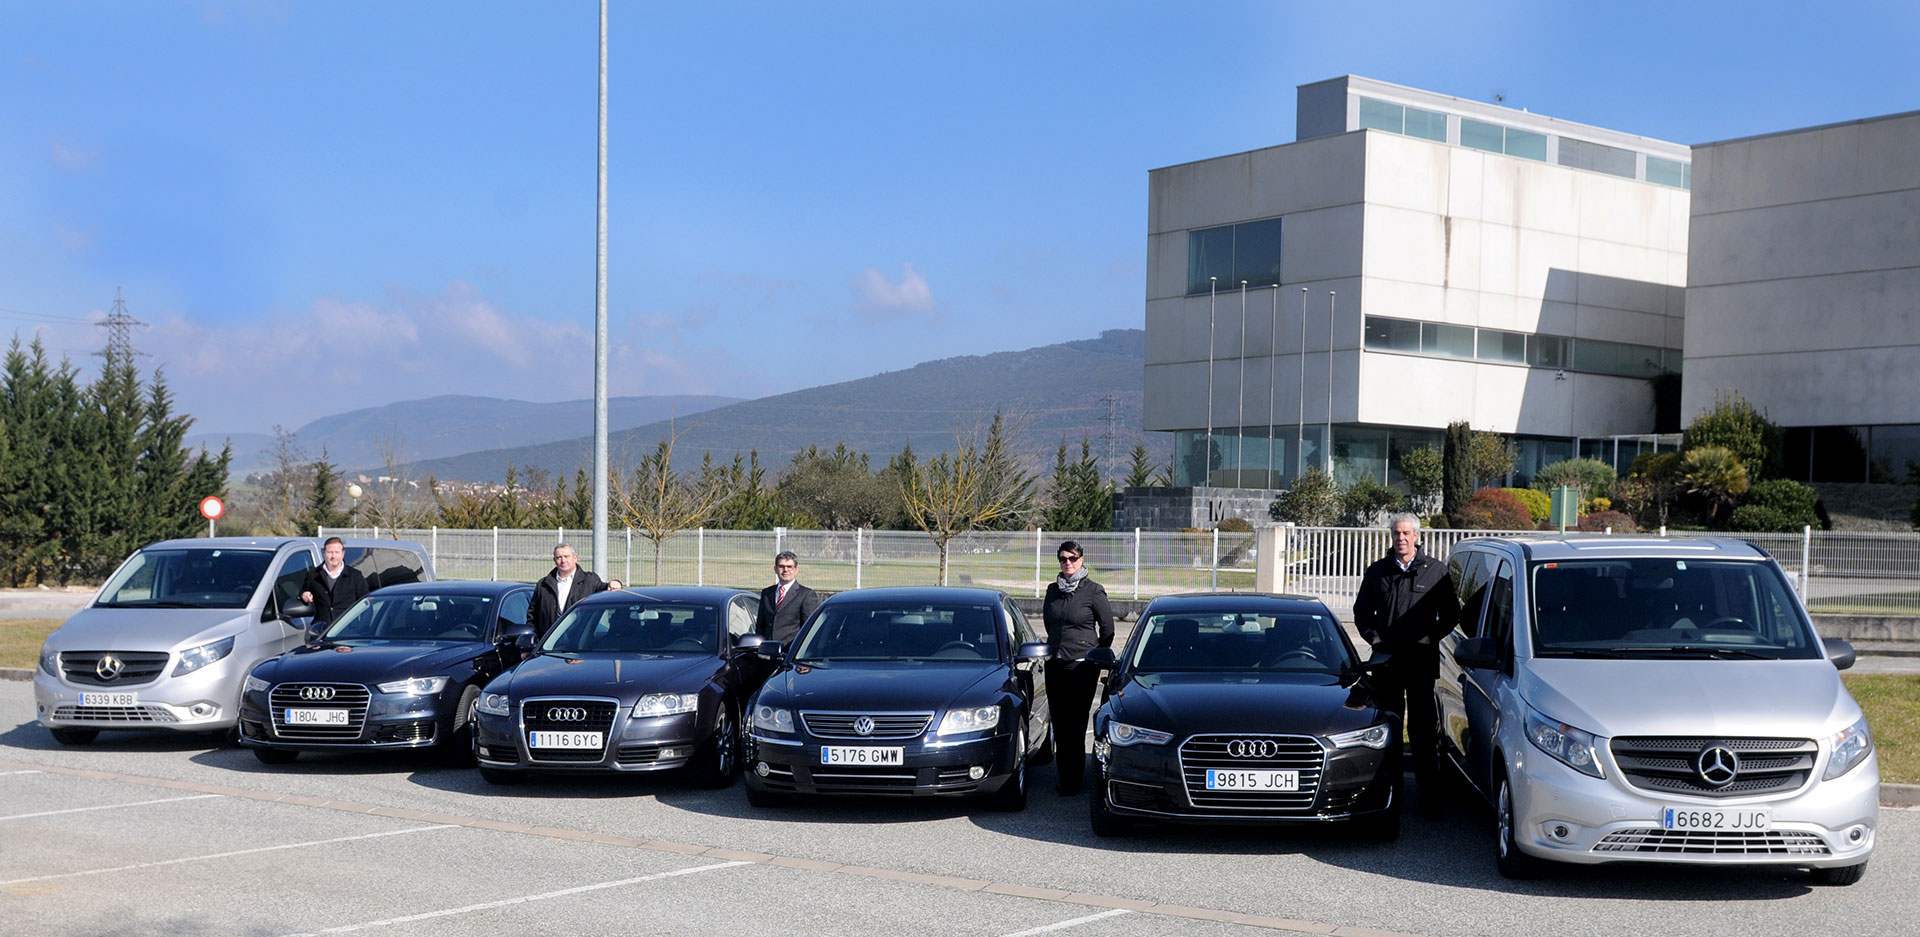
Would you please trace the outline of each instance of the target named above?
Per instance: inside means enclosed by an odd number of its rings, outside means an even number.
[[[822,747],[899,747],[902,764],[822,764]],[[755,732],[747,751],[747,785],[772,793],[822,795],[989,795],[1014,778],[1020,758],[1014,735],[927,741],[781,737]],[[977,774],[977,776],[975,776]]]

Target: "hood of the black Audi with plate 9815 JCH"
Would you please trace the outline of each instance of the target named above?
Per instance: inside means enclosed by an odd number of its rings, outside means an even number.
[[[1108,697],[1114,718],[1140,728],[1329,735],[1380,720],[1369,684],[1334,674],[1137,674]]]

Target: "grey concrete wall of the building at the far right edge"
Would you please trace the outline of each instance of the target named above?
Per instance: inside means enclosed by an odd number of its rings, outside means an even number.
[[[1920,422],[1920,113],[1693,148],[1682,417]]]

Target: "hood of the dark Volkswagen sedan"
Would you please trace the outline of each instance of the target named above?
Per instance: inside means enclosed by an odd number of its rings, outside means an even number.
[[[939,712],[973,687],[998,687],[1006,666],[979,661],[833,661],[787,666],[774,674],[762,699],[793,709]]]

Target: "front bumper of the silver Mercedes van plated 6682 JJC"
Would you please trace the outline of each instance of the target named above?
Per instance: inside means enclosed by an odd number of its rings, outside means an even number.
[[[1524,745],[1524,741],[1523,741]],[[1513,787],[1513,839],[1523,853],[1555,862],[1686,862],[1715,866],[1855,866],[1874,849],[1880,824],[1878,753],[1832,780],[1814,778],[1789,795],[1688,797],[1649,795],[1620,781],[1590,778],[1526,749],[1507,766]],[[1766,810],[1763,829],[1665,829],[1676,810]]]

